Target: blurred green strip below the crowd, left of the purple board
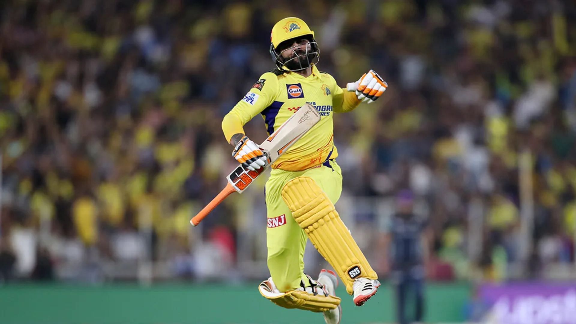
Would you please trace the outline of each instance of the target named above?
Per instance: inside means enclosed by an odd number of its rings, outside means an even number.
[[[393,322],[393,296],[383,285],[362,307],[342,287],[342,324]],[[462,322],[468,284],[429,284],[426,321]],[[323,323],[320,314],[287,310],[260,296],[256,282],[242,285],[135,284],[0,286],[2,323]]]

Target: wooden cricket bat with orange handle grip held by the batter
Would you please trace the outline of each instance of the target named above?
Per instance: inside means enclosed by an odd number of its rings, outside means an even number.
[[[200,222],[230,194],[234,192],[241,194],[257,176],[264,172],[265,168],[278,160],[278,157],[290,149],[296,141],[300,140],[300,138],[319,121],[320,114],[318,114],[316,108],[309,103],[304,104],[304,106],[298,109],[294,115],[290,116],[286,122],[259,145],[259,148],[267,157],[266,165],[256,171],[245,169],[241,164],[238,165],[234,171],[226,176],[226,180],[228,180],[226,187],[224,187],[206,207],[200,210],[196,216],[192,217],[190,224],[193,226],[200,224]]]

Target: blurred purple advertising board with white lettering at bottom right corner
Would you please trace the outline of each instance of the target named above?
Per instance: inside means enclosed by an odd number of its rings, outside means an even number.
[[[576,282],[484,284],[479,294],[490,323],[576,324]]]

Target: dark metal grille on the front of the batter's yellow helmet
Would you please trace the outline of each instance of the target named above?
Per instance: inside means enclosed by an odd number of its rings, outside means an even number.
[[[308,39],[308,37],[306,37]],[[302,52],[300,47],[304,44],[288,47],[280,52],[276,51],[274,44],[270,44],[270,55],[272,56],[272,61],[278,67],[278,69],[285,69],[289,71],[301,71],[308,69],[312,65],[316,65],[320,61],[320,48],[314,37],[310,37],[306,43],[306,50]],[[293,39],[286,40],[287,43],[294,43]],[[278,45],[277,48],[283,48],[282,43]],[[294,56],[290,58],[284,58],[282,53],[292,52]]]

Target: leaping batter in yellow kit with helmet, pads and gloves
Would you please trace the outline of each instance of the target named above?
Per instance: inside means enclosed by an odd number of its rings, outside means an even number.
[[[320,49],[300,18],[274,25],[270,54],[276,69],[262,74],[222,120],[226,140],[234,146],[232,155],[248,169],[265,166],[266,156],[242,129],[256,115],[262,115],[268,134],[305,103],[316,108],[321,120],[271,165],[265,187],[271,277],[259,290],[279,306],[323,312],[326,323],[336,324],[342,316],[336,274],[357,306],[376,293],[380,282],[334,208],[342,172],[332,118],[354,110],[362,100],[372,103],[388,85],[370,70],[340,88],[334,77],[317,69]],[[336,273],[322,270],[317,280],[304,273],[307,239]]]

